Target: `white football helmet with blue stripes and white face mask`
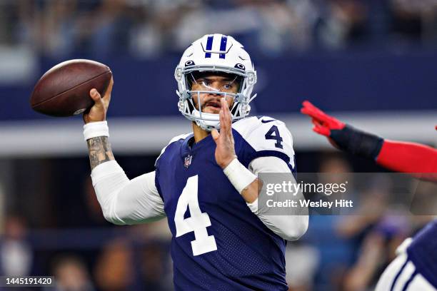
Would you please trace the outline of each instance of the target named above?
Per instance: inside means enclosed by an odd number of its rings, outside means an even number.
[[[192,91],[191,85],[195,81],[195,73],[220,72],[235,76],[234,81],[240,83],[237,93],[226,93],[219,88],[206,88],[202,91]],[[202,113],[200,94],[211,93],[214,95],[229,96],[233,98],[231,108],[232,120],[244,118],[251,110],[249,103],[256,97],[251,96],[256,83],[256,71],[248,53],[243,46],[232,36],[223,34],[209,34],[194,41],[186,49],[174,73],[178,82],[179,111],[190,121],[206,131],[220,128],[218,114]],[[197,108],[193,98],[197,99]]]

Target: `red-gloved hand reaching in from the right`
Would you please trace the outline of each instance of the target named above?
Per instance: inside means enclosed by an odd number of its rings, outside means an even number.
[[[316,106],[313,106],[309,101],[303,101],[302,106],[301,113],[311,117],[311,121],[314,125],[313,131],[322,136],[329,137],[331,136],[332,130],[341,130],[346,126],[345,123],[342,123],[337,118],[328,116],[328,114],[324,113]]]

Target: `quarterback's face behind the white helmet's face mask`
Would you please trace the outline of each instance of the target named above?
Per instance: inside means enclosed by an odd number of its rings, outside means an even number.
[[[220,111],[220,98],[226,98],[228,107],[233,105],[231,96],[224,96],[217,92],[238,93],[239,81],[233,75],[223,74],[204,74],[194,77],[191,91],[209,91],[210,93],[200,93],[201,111],[204,113],[218,114]],[[199,108],[198,94],[193,93],[193,102]]]

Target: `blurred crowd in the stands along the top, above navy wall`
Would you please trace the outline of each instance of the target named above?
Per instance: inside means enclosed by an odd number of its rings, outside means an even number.
[[[437,0],[6,0],[0,45],[43,56],[179,54],[204,34],[253,53],[437,46]]]

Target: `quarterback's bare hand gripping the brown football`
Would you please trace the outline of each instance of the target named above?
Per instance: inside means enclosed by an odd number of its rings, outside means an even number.
[[[84,122],[96,122],[96,121],[105,121],[106,120],[106,111],[108,111],[109,102],[111,101],[111,91],[112,86],[114,85],[114,78],[111,78],[109,82],[109,86],[106,89],[105,96],[101,98],[101,95],[95,88],[92,88],[89,91],[89,96],[94,100],[94,105],[89,109],[89,111],[85,111],[84,113]]]

